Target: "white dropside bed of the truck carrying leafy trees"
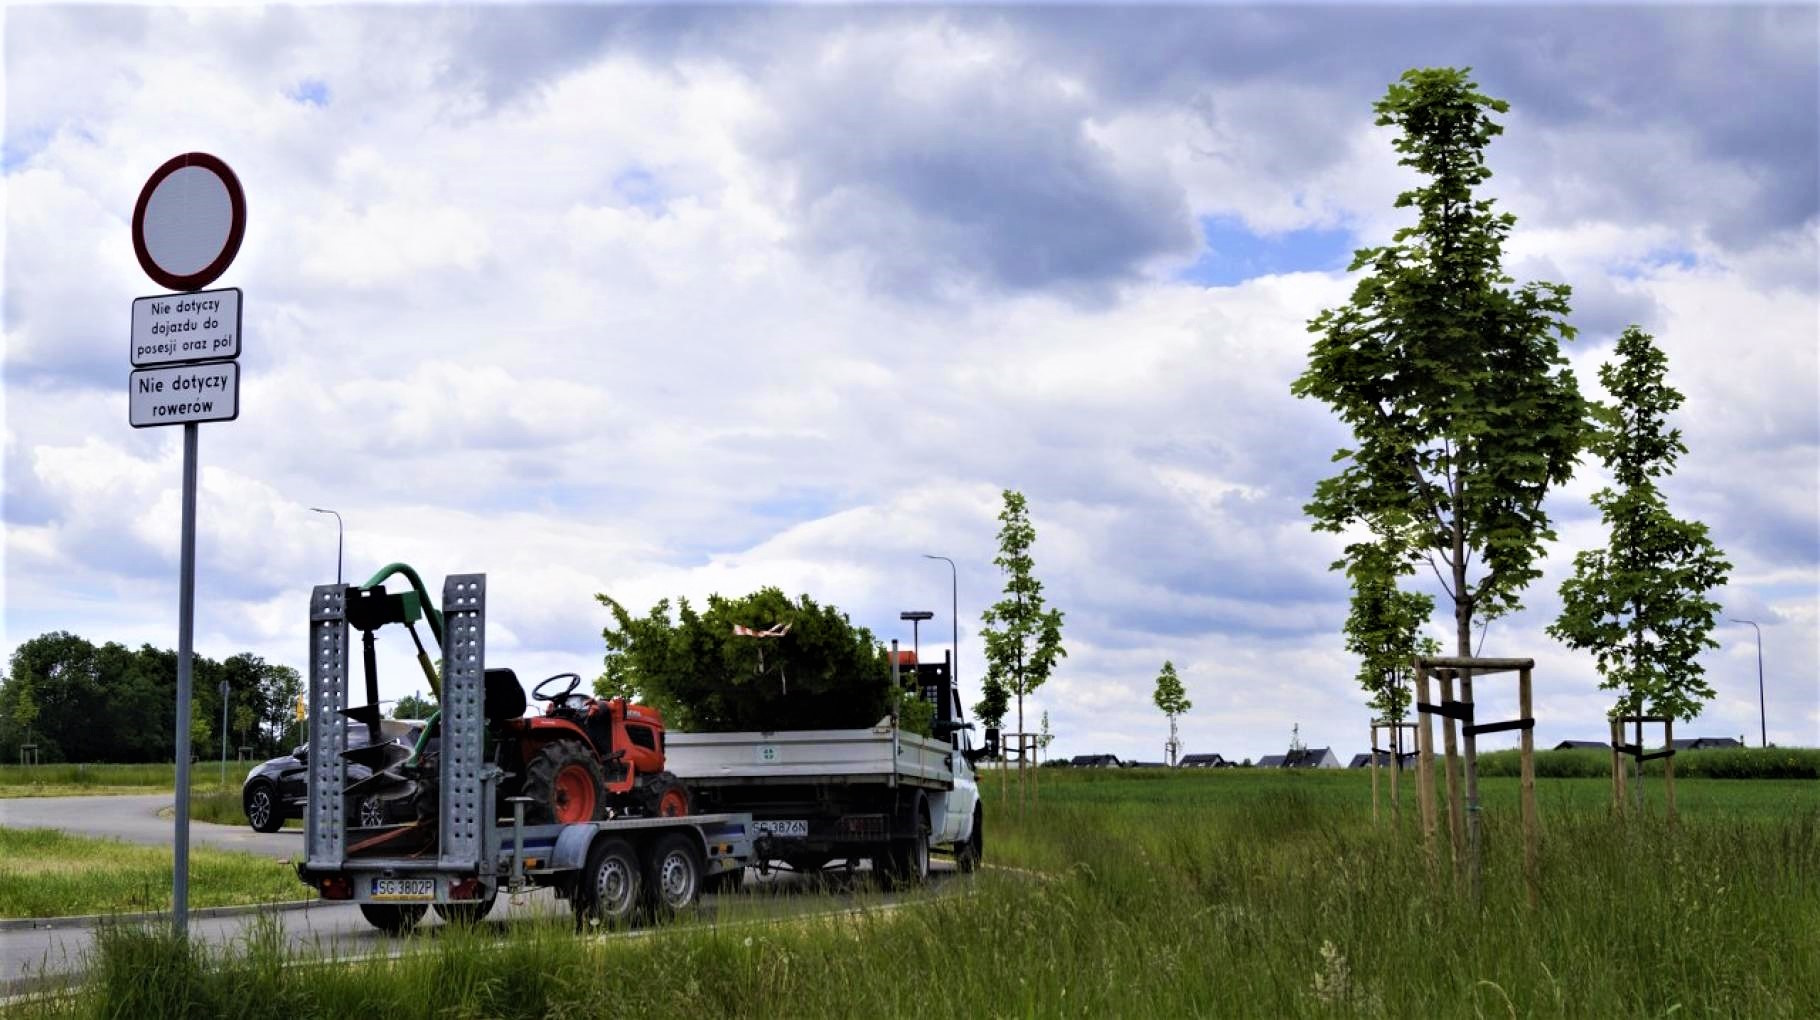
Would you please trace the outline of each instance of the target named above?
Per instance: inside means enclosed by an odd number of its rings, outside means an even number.
[[[908,783],[950,789],[954,749],[895,727],[863,730],[670,732],[666,767],[690,785]]]

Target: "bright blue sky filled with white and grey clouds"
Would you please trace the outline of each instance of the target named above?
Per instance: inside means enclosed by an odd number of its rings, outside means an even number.
[[[273,7],[5,11],[4,634],[177,643],[180,430],[126,421],[129,220],[182,151],[238,173],[242,412],[202,428],[197,647],[304,667],[309,586],[486,572],[493,663],[601,663],[595,592],[808,592],[950,632],[968,703],[999,492],[1067,612],[1054,752],[1363,750],[1330,536],[1347,437],[1290,381],[1414,182],[1370,104],[1471,66],[1512,106],[1507,270],[1572,286],[1582,386],[1658,337],[1665,484],[1762,623],[1769,738],[1820,743],[1815,7]],[[1596,738],[1543,634],[1602,543],[1583,464],[1485,654]],[[437,583],[437,581],[433,581]],[[1445,617],[1431,628],[1451,634]],[[1725,625],[1685,727],[1756,743]],[[397,652],[397,650],[393,650]],[[386,696],[415,687],[399,668]],[[1481,692],[1514,714],[1502,685]],[[1496,709],[1487,709],[1498,714]]]

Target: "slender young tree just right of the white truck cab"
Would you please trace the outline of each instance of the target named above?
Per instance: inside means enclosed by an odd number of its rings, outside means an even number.
[[[1036,579],[1030,545],[1036,528],[1021,492],[1005,490],[1005,510],[999,512],[999,556],[992,559],[1005,572],[1005,597],[983,616],[979,638],[986,645],[986,698],[997,685],[1017,699],[1017,732],[1025,732],[1023,699],[1043,687],[1056,668],[1056,659],[1068,656],[1061,647],[1061,610],[1045,608],[1043,583]],[[979,712],[986,718],[986,712]],[[1019,738],[1021,740],[1021,738]],[[1025,789],[1025,761],[1017,756],[1017,789]]]

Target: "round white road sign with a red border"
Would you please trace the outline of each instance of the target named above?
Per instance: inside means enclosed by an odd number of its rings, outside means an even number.
[[[246,235],[240,178],[209,153],[184,153],[153,171],[133,206],[133,253],[169,290],[215,282]]]

